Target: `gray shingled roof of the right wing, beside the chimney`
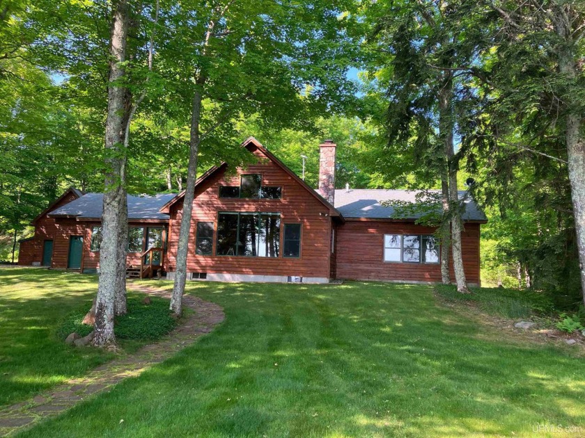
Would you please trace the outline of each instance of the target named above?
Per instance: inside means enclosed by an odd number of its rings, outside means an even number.
[[[435,191],[435,190],[433,190]],[[436,190],[437,193],[439,190]],[[413,213],[409,217],[393,216],[394,209],[391,206],[382,206],[383,201],[416,202],[416,190],[384,190],[384,189],[352,189],[335,190],[335,208],[344,218],[370,218],[370,219],[418,219],[421,213]],[[462,197],[465,191],[459,192]],[[471,198],[465,201],[465,214],[463,220],[487,220],[483,211]]]

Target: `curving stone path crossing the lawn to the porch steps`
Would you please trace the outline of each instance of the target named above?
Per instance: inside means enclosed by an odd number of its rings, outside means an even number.
[[[171,298],[171,293],[151,287],[127,283],[127,289]],[[98,366],[85,377],[68,380],[43,394],[15,405],[0,408],[0,437],[13,435],[41,419],[56,416],[93,394],[109,391],[125,378],[140,375],[154,364],[175,355],[214,326],[224,321],[224,311],[212,302],[183,295],[183,305],[194,310],[182,319],[181,325],[156,343],[144,346],[133,355],[114,359]]]

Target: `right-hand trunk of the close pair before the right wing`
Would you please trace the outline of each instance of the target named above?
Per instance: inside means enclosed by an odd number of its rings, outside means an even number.
[[[443,87],[439,92],[439,136],[444,145],[446,167],[448,172],[448,216],[451,218],[451,250],[453,254],[453,270],[457,290],[461,293],[469,293],[465,270],[463,270],[463,256],[461,247],[462,220],[460,216],[459,193],[457,190],[458,161],[455,159],[455,145],[453,144],[453,111],[451,99],[453,97],[453,76],[447,72]]]

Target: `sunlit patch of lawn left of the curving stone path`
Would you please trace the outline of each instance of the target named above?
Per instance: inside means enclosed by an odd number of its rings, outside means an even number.
[[[72,312],[83,318],[96,291],[95,275],[0,268],[0,406],[84,375],[114,357],[102,350],[66,346],[60,333],[67,330],[63,324]],[[129,296],[131,302],[140,299]],[[128,330],[133,327],[137,325]],[[152,324],[147,328],[152,330]],[[120,342],[121,354],[139,348],[144,337]]]

